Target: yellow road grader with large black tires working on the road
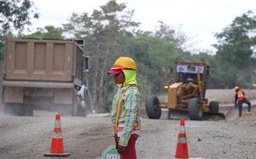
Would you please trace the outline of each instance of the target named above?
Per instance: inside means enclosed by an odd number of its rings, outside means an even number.
[[[146,112],[150,119],[159,119],[161,108],[169,109],[169,119],[204,120],[213,115],[218,119],[225,119],[219,113],[219,103],[212,101],[208,104],[205,98],[207,77],[210,65],[199,62],[174,62],[174,83],[171,84],[167,73],[163,69],[168,90],[167,101],[159,101],[155,95],[146,98]]]

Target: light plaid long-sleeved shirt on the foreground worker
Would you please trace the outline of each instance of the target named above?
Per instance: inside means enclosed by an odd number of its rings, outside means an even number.
[[[120,95],[129,87],[126,85],[119,89],[113,98],[112,110],[110,114],[111,122],[116,122],[117,102]],[[130,88],[125,92],[123,102],[121,106],[120,117],[118,125],[124,126],[122,135],[120,136],[119,143],[121,146],[127,146],[131,137],[133,127],[138,123],[138,111],[139,111],[140,93],[137,89]]]

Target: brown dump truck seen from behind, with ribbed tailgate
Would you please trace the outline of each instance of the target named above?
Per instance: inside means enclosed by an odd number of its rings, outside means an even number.
[[[86,116],[77,96],[90,68],[83,44],[83,40],[6,39],[4,112],[33,115],[33,110],[43,110]]]

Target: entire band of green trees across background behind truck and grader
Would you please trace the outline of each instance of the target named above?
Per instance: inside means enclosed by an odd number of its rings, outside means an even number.
[[[6,36],[4,31],[10,26],[22,31],[24,25],[30,24],[28,15],[33,13],[30,1],[4,1],[0,4],[1,9],[5,8],[1,11],[4,16],[0,18],[3,25],[0,38]],[[6,9],[8,7],[9,10]],[[21,15],[18,16],[18,13]],[[106,75],[106,72],[119,56],[130,56],[136,61],[142,102],[147,95],[163,91],[163,67],[170,70],[175,61],[211,64],[208,88],[250,87],[255,83],[256,17],[251,11],[235,18],[231,25],[215,34],[218,39],[218,44],[214,45],[218,49],[216,55],[184,51],[184,44],[189,38],[163,21],[158,21],[158,29],[154,32],[139,31],[139,23],[132,20],[133,15],[134,11],[127,9],[125,3],[111,0],[101,5],[100,9],[93,10],[92,14],[73,13],[63,28],[45,26],[35,33],[22,35],[22,38],[63,39],[62,33],[69,33],[72,38],[85,40],[85,53],[92,57],[92,68],[86,78],[90,81],[89,89],[97,112],[111,109],[117,88],[112,76]],[[7,21],[3,20],[6,16],[10,17]],[[26,18],[21,18],[24,16]],[[35,18],[37,16],[35,14]],[[17,17],[20,22],[15,21]]]

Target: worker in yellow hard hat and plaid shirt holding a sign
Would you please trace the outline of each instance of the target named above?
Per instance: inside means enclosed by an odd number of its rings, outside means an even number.
[[[107,74],[118,87],[110,114],[116,148],[122,159],[135,159],[135,143],[140,133],[140,93],[136,80],[137,66],[130,57],[119,57]]]

